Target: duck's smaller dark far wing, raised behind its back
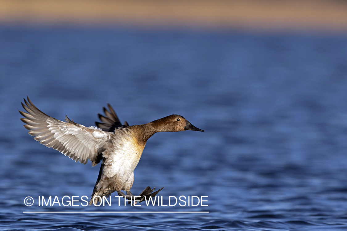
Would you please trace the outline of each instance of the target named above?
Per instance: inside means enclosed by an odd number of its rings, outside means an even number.
[[[105,132],[114,132],[119,127],[124,128],[129,126],[126,121],[124,122],[124,125],[122,125],[118,119],[117,114],[115,113],[115,110],[113,110],[110,104],[107,104],[107,106],[110,112],[105,107],[103,107],[105,116],[98,114],[99,119],[102,123],[95,122],[96,126],[100,127],[102,131]]]

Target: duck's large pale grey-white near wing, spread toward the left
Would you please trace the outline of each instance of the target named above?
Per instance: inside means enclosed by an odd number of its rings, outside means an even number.
[[[102,146],[110,140],[110,133],[101,131],[97,127],[85,127],[65,118],[62,122],[41,112],[30,101],[24,99],[23,108],[28,112],[21,112],[25,118],[21,120],[26,123],[24,127],[34,139],[49,148],[53,148],[70,157],[76,162],[86,164],[88,159],[92,166],[100,162],[99,154],[103,152]],[[99,156],[99,157],[98,157]]]

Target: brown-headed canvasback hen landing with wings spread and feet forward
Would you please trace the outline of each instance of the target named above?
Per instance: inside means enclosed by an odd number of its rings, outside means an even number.
[[[147,140],[154,133],[204,131],[180,115],[169,115],[142,125],[129,126],[127,122],[122,125],[109,104],[109,111],[103,108],[105,116],[98,114],[102,123],[95,122],[97,127],[85,127],[67,116],[65,116],[66,122],[63,122],[44,114],[35,107],[29,97],[27,101],[24,99],[24,103],[22,106],[27,113],[22,111],[19,113],[25,117],[21,120],[25,123],[24,127],[29,130],[28,133],[35,136],[34,140],[58,150],[76,162],[86,164],[89,159],[92,166],[95,166],[102,161],[89,205],[93,204],[94,197],[108,197],[115,191],[119,196],[129,200],[134,196],[130,192],[134,183],[134,169]],[[149,199],[163,188],[156,192],[153,192],[154,189],[145,188],[136,200],[142,202],[145,198]],[[96,197],[95,203],[100,202],[100,198]]]

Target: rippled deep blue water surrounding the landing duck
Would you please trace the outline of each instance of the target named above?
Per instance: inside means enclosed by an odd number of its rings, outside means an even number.
[[[346,36],[1,27],[0,77],[0,230],[347,229]],[[28,135],[27,95],[86,126],[107,103],[130,125],[184,116],[205,132],[151,137],[132,192],[209,206],[25,206],[89,197],[99,172]]]

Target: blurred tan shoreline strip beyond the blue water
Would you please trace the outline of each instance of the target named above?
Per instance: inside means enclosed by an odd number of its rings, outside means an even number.
[[[0,25],[347,32],[342,0],[0,0]]]

